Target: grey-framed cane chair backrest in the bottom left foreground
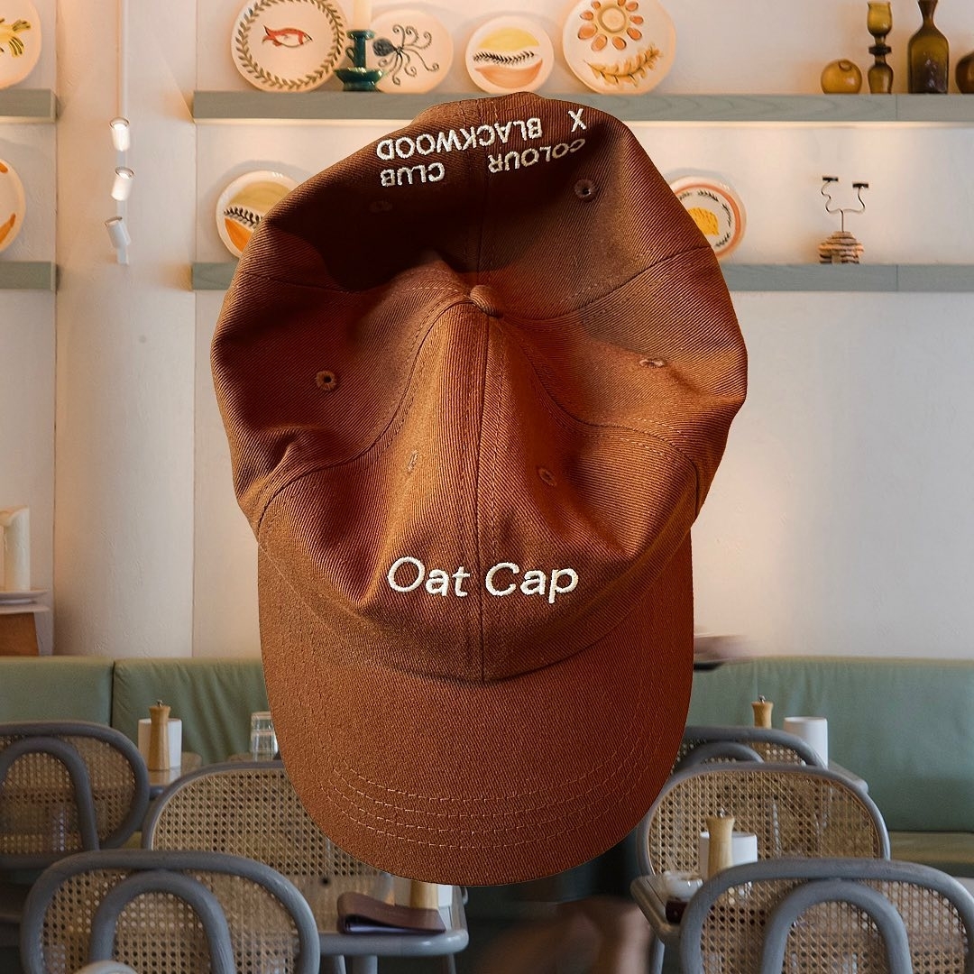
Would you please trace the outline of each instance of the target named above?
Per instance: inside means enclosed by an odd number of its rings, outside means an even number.
[[[20,957],[25,974],[71,974],[96,960],[166,974],[317,974],[320,949],[311,908],[263,863],[102,849],[61,859],[34,883]]]

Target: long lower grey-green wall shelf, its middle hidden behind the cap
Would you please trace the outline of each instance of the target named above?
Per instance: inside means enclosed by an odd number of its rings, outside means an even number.
[[[193,265],[193,290],[222,291],[236,261]],[[724,264],[731,291],[974,291],[974,264]]]

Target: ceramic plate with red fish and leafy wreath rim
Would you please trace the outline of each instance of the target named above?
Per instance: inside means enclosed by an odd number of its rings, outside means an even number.
[[[345,18],[331,0],[252,0],[230,40],[237,70],[265,92],[318,88],[345,47]]]

